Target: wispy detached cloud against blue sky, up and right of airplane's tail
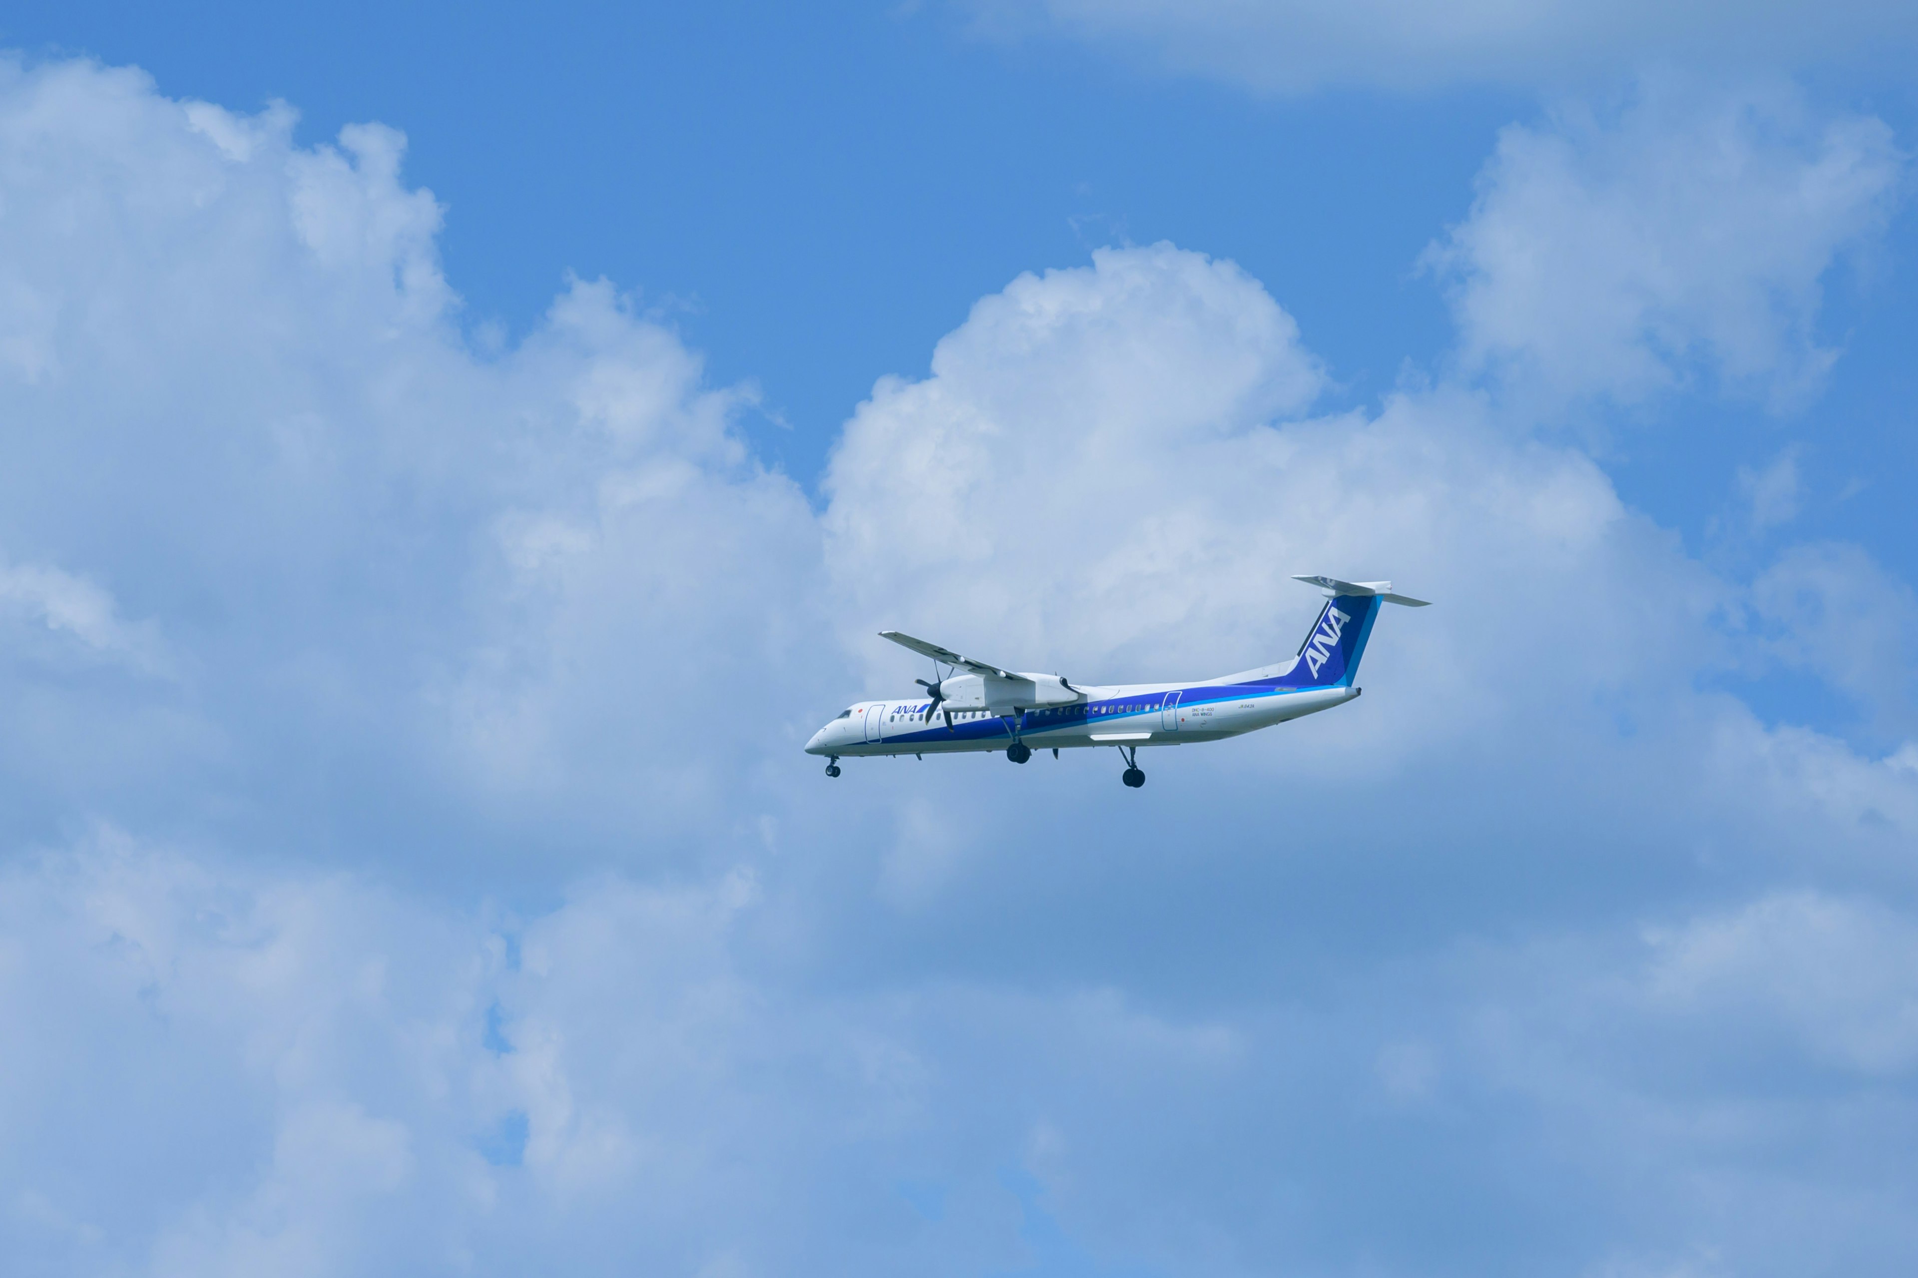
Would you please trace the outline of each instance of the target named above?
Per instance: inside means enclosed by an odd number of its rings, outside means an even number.
[[[1786,408],[1837,358],[1816,331],[1824,278],[1882,230],[1901,171],[1878,119],[1649,80],[1617,113],[1504,128],[1427,262],[1465,368],[1534,412],[1699,374]]]

